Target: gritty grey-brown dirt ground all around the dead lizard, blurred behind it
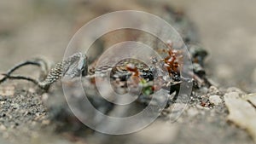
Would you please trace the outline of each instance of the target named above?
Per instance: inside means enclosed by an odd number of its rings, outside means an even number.
[[[0,85],[0,143],[253,144],[246,130],[227,122],[229,112],[224,105],[224,95],[230,91],[240,95],[256,92],[256,1],[170,0],[166,3],[183,9],[195,23],[201,44],[210,54],[207,73],[218,88],[196,91],[191,95],[189,107],[170,126],[163,122],[166,118],[160,118],[146,130],[131,135],[89,132],[86,136],[74,136],[56,129],[58,124],[49,119],[49,112],[42,101],[45,95],[38,91],[37,86],[24,81],[8,82]],[[59,61],[73,34],[88,20],[109,9],[150,12],[147,5],[150,5],[148,1],[3,0],[0,2],[0,72],[38,55]],[[19,73],[38,77],[34,67],[22,69]],[[233,86],[239,89],[227,89]],[[211,104],[211,95],[218,95],[221,102]],[[183,103],[177,105],[185,107]]]

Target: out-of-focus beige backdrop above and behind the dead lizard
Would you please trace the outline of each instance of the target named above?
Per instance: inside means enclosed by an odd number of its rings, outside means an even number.
[[[109,11],[147,9],[152,0],[1,0],[0,72],[44,55],[61,60],[69,40],[89,20]],[[161,0],[183,9],[210,56],[207,72],[221,87],[256,89],[256,1]],[[159,15],[160,16],[160,15]],[[32,73],[32,72],[28,72]]]

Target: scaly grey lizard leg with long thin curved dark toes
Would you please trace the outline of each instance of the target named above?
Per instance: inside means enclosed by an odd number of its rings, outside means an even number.
[[[44,80],[36,80],[25,76],[12,76],[22,66],[34,65],[39,66],[41,71],[44,72]],[[0,84],[7,79],[23,79],[37,84],[41,89],[48,90],[49,86],[62,77],[62,74],[67,75],[71,78],[78,77],[80,75],[87,75],[87,57],[81,53],[76,53],[57,63],[53,68],[49,70],[48,63],[43,59],[26,60],[20,64],[11,68],[6,74],[3,74],[3,78],[0,80]]]

